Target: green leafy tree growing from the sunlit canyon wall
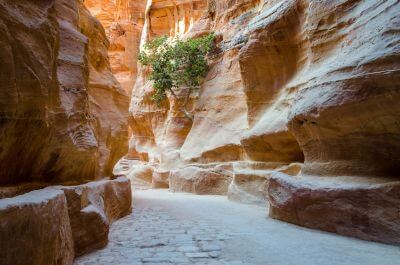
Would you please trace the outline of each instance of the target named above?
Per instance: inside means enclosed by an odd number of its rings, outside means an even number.
[[[174,88],[186,87],[188,97],[197,89],[208,72],[206,56],[211,51],[214,34],[197,39],[169,41],[166,36],[148,42],[139,55],[139,62],[151,67],[154,82],[153,100],[160,105]],[[186,105],[187,102],[185,102]],[[184,107],[185,107],[184,105]]]

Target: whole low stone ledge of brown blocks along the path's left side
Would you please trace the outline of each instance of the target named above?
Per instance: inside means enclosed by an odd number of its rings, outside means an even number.
[[[71,265],[107,244],[109,226],[131,212],[131,198],[130,181],[120,177],[0,200],[0,264]]]

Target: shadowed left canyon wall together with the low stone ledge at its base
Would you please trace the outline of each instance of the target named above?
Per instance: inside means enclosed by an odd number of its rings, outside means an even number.
[[[0,0],[0,36],[0,264],[70,265],[131,212],[128,96],[80,0]]]

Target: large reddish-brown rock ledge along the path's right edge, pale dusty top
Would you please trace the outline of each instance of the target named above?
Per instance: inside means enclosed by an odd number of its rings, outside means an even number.
[[[291,177],[269,181],[269,215],[346,236],[400,245],[400,181],[365,177]]]

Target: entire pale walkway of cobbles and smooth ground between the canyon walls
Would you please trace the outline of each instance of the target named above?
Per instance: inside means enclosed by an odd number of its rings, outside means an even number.
[[[105,249],[76,265],[398,265],[400,248],[266,218],[266,209],[221,196],[136,190]]]

